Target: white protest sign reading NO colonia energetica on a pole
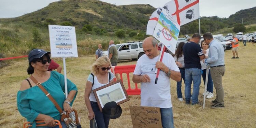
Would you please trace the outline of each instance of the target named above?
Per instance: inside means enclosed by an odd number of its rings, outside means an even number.
[[[52,57],[78,57],[75,27],[48,25]]]

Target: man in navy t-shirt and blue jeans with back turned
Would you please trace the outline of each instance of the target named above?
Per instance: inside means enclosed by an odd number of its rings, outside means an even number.
[[[183,55],[185,63],[185,99],[186,104],[198,104],[199,86],[201,84],[201,63],[200,59],[204,59],[205,55],[198,43],[200,42],[201,35],[195,33],[192,38],[183,46]],[[193,94],[191,95],[191,84],[193,81]]]

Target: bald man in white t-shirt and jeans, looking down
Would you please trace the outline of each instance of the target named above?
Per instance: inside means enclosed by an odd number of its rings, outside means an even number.
[[[157,49],[155,38],[146,38],[142,46],[145,54],[137,61],[132,77],[134,83],[141,83],[141,106],[159,107],[162,127],[173,128],[170,78],[180,81],[180,70],[168,53],[163,54],[162,62],[158,61],[160,51]],[[160,69],[157,84],[155,84],[156,68]]]

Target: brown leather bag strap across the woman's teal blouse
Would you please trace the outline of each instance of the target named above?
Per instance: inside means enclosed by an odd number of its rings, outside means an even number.
[[[48,91],[41,85],[41,83],[39,83],[32,75],[29,77],[34,83],[35,85],[37,85],[43,92],[44,94],[53,102],[53,104],[55,105],[55,107],[57,108],[57,110],[59,111],[60,115],[63,114],[63,110],[60,108],[59,104],[53,99],[53,97],[51,96],[51,94],[48,93]],[[65,115],[65,114],[64,114]]]

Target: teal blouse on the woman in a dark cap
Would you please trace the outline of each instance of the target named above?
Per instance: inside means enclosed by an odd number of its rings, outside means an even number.
[[[65,97],[65,84],[64,76],[56,71],[51,72],[50,78],[41,83],[41,85],[48,91],[49,94],[56,100],[60,108],[63,110],[63,103]],[[67,79],[68,93],[77,88],[74,83]],[[75,97],[76,97],[75,94]],[[75,99],[74,97],[74,99]],[[71,104],[73,104],[74,99]],[[38,86],[18,91],[17,94],[17,107],[19,113],[27,118],[29,122],[33,122],[39,114],[45,114],[60,120],[60,113],[54,106],[53,102],[43,93]]]

